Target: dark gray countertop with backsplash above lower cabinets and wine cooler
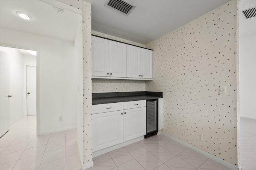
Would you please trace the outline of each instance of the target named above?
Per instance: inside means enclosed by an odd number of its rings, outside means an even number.
[[[162,92],[93,93],[92,105],[163,98]]]

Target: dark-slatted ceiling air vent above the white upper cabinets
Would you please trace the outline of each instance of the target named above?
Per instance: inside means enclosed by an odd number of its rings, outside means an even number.
[[[105,6],[114,9],[120,14],[124,14],[126,16],[128,16],[130,12],[132,12],[132,10],[135,8],[134,5],[125,0],[108,0]]]

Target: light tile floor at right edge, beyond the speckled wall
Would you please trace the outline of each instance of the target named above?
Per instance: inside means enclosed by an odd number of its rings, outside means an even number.
[[[256,120],[240,117],[240,163],[242,170],[256,170]]]

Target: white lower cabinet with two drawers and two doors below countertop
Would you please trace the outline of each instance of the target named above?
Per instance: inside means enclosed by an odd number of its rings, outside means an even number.
[[[106,112],[110,107],[120,109],[117,107],[120,104],[124,106],[121,110]],[[136,138],[144,138],[144,135],[146,100],[92,106],[92,152],[129,143]]]

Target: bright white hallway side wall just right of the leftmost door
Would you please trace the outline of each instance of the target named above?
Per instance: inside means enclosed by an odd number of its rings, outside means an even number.
[[[22,55],[13,48],[0,47],[10,57],[10,124],[23,116]]]

